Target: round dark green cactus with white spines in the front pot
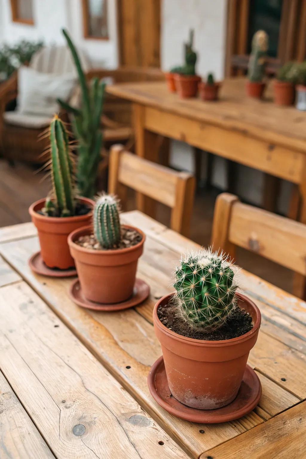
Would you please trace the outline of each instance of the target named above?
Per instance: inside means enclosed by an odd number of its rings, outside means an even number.
[[[191,328],[215,330],[235,308],[234,271],[222,253],[201,249],[182,257],[174,272],[177,313]]]

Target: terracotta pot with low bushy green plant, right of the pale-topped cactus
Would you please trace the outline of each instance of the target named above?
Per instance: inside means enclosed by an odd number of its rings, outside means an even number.
[[[292,105],[295,100],[297,69],[295,62],[287,62],[278,70],[274,81],[274,102],[277,105]]]

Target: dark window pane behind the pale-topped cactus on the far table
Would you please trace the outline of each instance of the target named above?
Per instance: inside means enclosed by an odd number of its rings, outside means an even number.
[[[280,18],[283,0],[251,0],[248,36],[248,54],[251,50],[252,37],[257,30],[264,30],[269,35],[268,55],[277,57]]]

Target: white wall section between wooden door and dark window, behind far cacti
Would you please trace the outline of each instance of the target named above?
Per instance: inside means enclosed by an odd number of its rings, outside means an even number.
[[[183,43],[195,30],[197,73],[223,77],[227,0],[162,0],[161,67],[181,65]]]

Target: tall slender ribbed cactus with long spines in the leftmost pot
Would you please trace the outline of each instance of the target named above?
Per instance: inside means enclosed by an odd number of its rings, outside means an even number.
[[[49,216],[72,217],[75,211],[73,161],[64,124],[54,116],[50,124],[51,198],[43,212]]]

